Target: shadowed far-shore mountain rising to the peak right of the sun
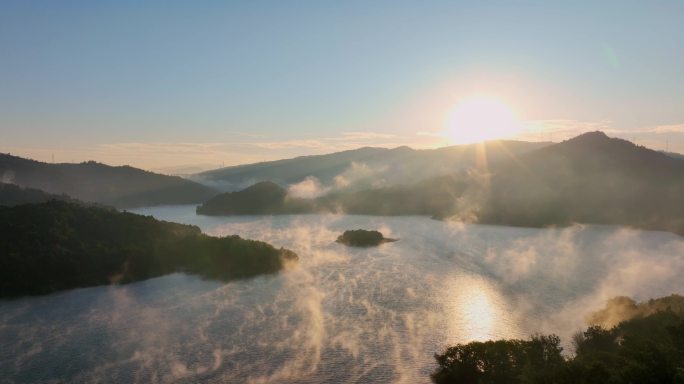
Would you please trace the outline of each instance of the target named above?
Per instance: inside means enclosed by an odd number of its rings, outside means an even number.
[[[684,234],[684,161],[601,132],[411,184],[315,199],[291,198],[281,188],[271,196],[277,199],[258,213],[430,215],[532,227],[579,222]],[[233,214],[227,206],[246,205],[217,197],[198,213]],[[257,212],[241,211],[250,213]]]

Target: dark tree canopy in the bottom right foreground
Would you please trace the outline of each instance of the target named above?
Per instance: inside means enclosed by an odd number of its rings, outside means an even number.
[[[472,342],[435,355],[438,384],[516,383],[684,383],[684,297],[679,303],[604,329],[592,325],[573,338],[575,355],[562,354],[555,335],[529,340]],[[646,307],[653,307],[653,301]]]

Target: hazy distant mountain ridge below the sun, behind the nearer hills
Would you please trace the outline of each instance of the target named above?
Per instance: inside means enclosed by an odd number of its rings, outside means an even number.
[[[315,178],[320,187],[330,190],[378,188],[453,173],[547,145],[549,143],[490,141],[422,150],[364,147],[327,155],[221,168],[190,178],[222,191],[241,190],[259,181],[288,186],[307,178]]]

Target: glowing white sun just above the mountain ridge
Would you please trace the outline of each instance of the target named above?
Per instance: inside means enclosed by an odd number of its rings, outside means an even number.
[[[456,104],[445,127],[445,135],[456,144],[505,139],[521,132],[513,110],[490,96],[474,96]]]

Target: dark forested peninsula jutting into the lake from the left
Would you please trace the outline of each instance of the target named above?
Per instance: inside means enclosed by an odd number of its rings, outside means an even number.
[[[297,255],[195,226],[63,201],[0,207],[0,297],[127,283],[172,272],[230,280]]]

